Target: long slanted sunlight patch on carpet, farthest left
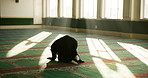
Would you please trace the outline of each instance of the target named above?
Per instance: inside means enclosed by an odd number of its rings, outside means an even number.
[[[8,51],[6,57],[13,57],[15,55],[18,55],[18,54],[32,48],[33,46],[35,46],[36,44],[38,44],[39,42],[41,42],[42,40],[44,40],[45,38],[50,36],[51,34],[52,33],[50,33],[50,32],[43,31],[43,32],[25,40],[25,41],[22,41],[21,43],[14,46],[10,51]]]

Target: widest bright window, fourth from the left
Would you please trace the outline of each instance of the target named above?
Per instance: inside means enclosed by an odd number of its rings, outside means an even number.
[[[104,18],[122,19],[123,0],[104,0]]]

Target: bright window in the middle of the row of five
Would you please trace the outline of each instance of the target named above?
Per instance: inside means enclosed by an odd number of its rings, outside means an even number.
[[[97,0],[81,0],[81,18],[97,18]]]

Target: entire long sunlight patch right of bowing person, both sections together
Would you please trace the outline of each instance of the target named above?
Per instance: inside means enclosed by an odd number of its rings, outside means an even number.
[[[86,38],[92,59],[103,78],[136,78],[120,58],[101,39]],[[96,57],[97,56],[97,57]],[[110,68],[103,60],[115,60],[116,69]]]

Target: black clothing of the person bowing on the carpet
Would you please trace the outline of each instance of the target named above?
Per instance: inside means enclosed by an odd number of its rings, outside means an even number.
[[[52,58],[51,60],[56,59],[56,55],[58,54],[58,60],[61,62],[71,62],[77,54],[77,41],[66,35],[58,40],[56,40],[51,45]]]

